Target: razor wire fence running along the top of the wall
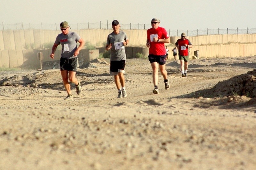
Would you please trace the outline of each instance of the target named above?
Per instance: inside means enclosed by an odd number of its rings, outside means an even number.
[[[73,30],[87,30],[87,29],[110,29],[112,30],[112,23],[77,23],[69,24],[70,28]],[[122,24],[120,23],[122,30],[147,30],[151,28],[151,24]],[[41,29],[41,30],[59,30],[59,24],[0,24],[0,30],[28,30],[28,29]],[[199,36],[199,35],[218,35],[218,34],[255,34],[256,28],[235,28],[235,29],[206,29],[206,30],[168,30],[166,29],[170,36],[180,36],[182,32],[185,32],[187,36]]]

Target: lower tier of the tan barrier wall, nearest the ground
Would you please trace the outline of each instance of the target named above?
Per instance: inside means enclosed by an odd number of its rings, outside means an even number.
[[[168,46],[169,56],[172,59],[172,49],[174,46]],[[82,49],[80,54],[83,55],[84,62],[99,56],[99,52],[104,52],[104,47],[99,47],[97,50]],[[189,57],[192,59],[194,51],[198,51],[199,58],[223,58],[223,57],[244,57],[256,56],[256,43],[253,44],[238,44],[233,43],[229,45],[214,45],[214,46],[193,46],[190,48]],[[42,62],[53,61],[50,58],[51,49],[37,49],[37,50],[0,50],[0,67],[23,67],[23,68],[39,68],[40,62],[37,58],[37,53],[42,53]],[[137,53],[143,54],[147,57],[149,48],[147,47],[125,47],[126,58],[136,58]],[[59,61],[61,50],[56,50],[54,61]]]

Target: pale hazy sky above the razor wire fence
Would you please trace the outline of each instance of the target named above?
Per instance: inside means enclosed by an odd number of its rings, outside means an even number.
[[[166,30],[256,28],[256,0],[1,0],[0,24],[150,24]]]

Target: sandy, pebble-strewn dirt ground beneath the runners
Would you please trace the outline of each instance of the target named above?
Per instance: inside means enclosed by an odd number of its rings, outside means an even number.
[[[0,72],[0,169],[255,169],[255,57],[198,59],[152,93],[148,60],[128,59],[126,98],[109,60],[77,71],[65,101],[59,70]]]

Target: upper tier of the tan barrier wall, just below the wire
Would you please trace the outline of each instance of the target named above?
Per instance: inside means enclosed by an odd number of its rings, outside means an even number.
[[[85,41],[89,41],[94,46],[102,45],[106,42],[107,36],[112,30],[71,30],[77,32]],[[124,30],[130,46],[145,46],[147,30]],[[45,43],[53,43],[60,31],[52,30],[7,30],[0,31],[0,50],[24,50],[44,48]],[[174,45],[180,37],[171,37]],[[226,34],[226,35],[203,35],[187,36],[194,46],[226,44],[230,42],[255,43],[256,34]]]

